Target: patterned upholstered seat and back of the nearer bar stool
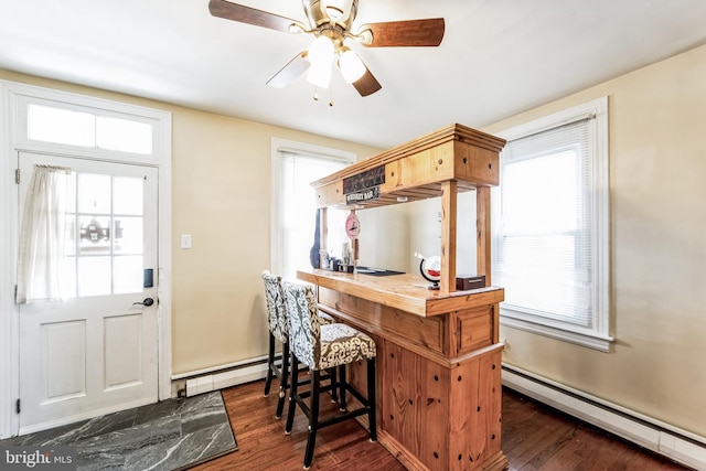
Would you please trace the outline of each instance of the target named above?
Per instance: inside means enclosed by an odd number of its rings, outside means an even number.
[[[290,349],[311,370],[325,370],[375,356],[368,335],[341,323],[321,324],[311,285],[284,281]]]

